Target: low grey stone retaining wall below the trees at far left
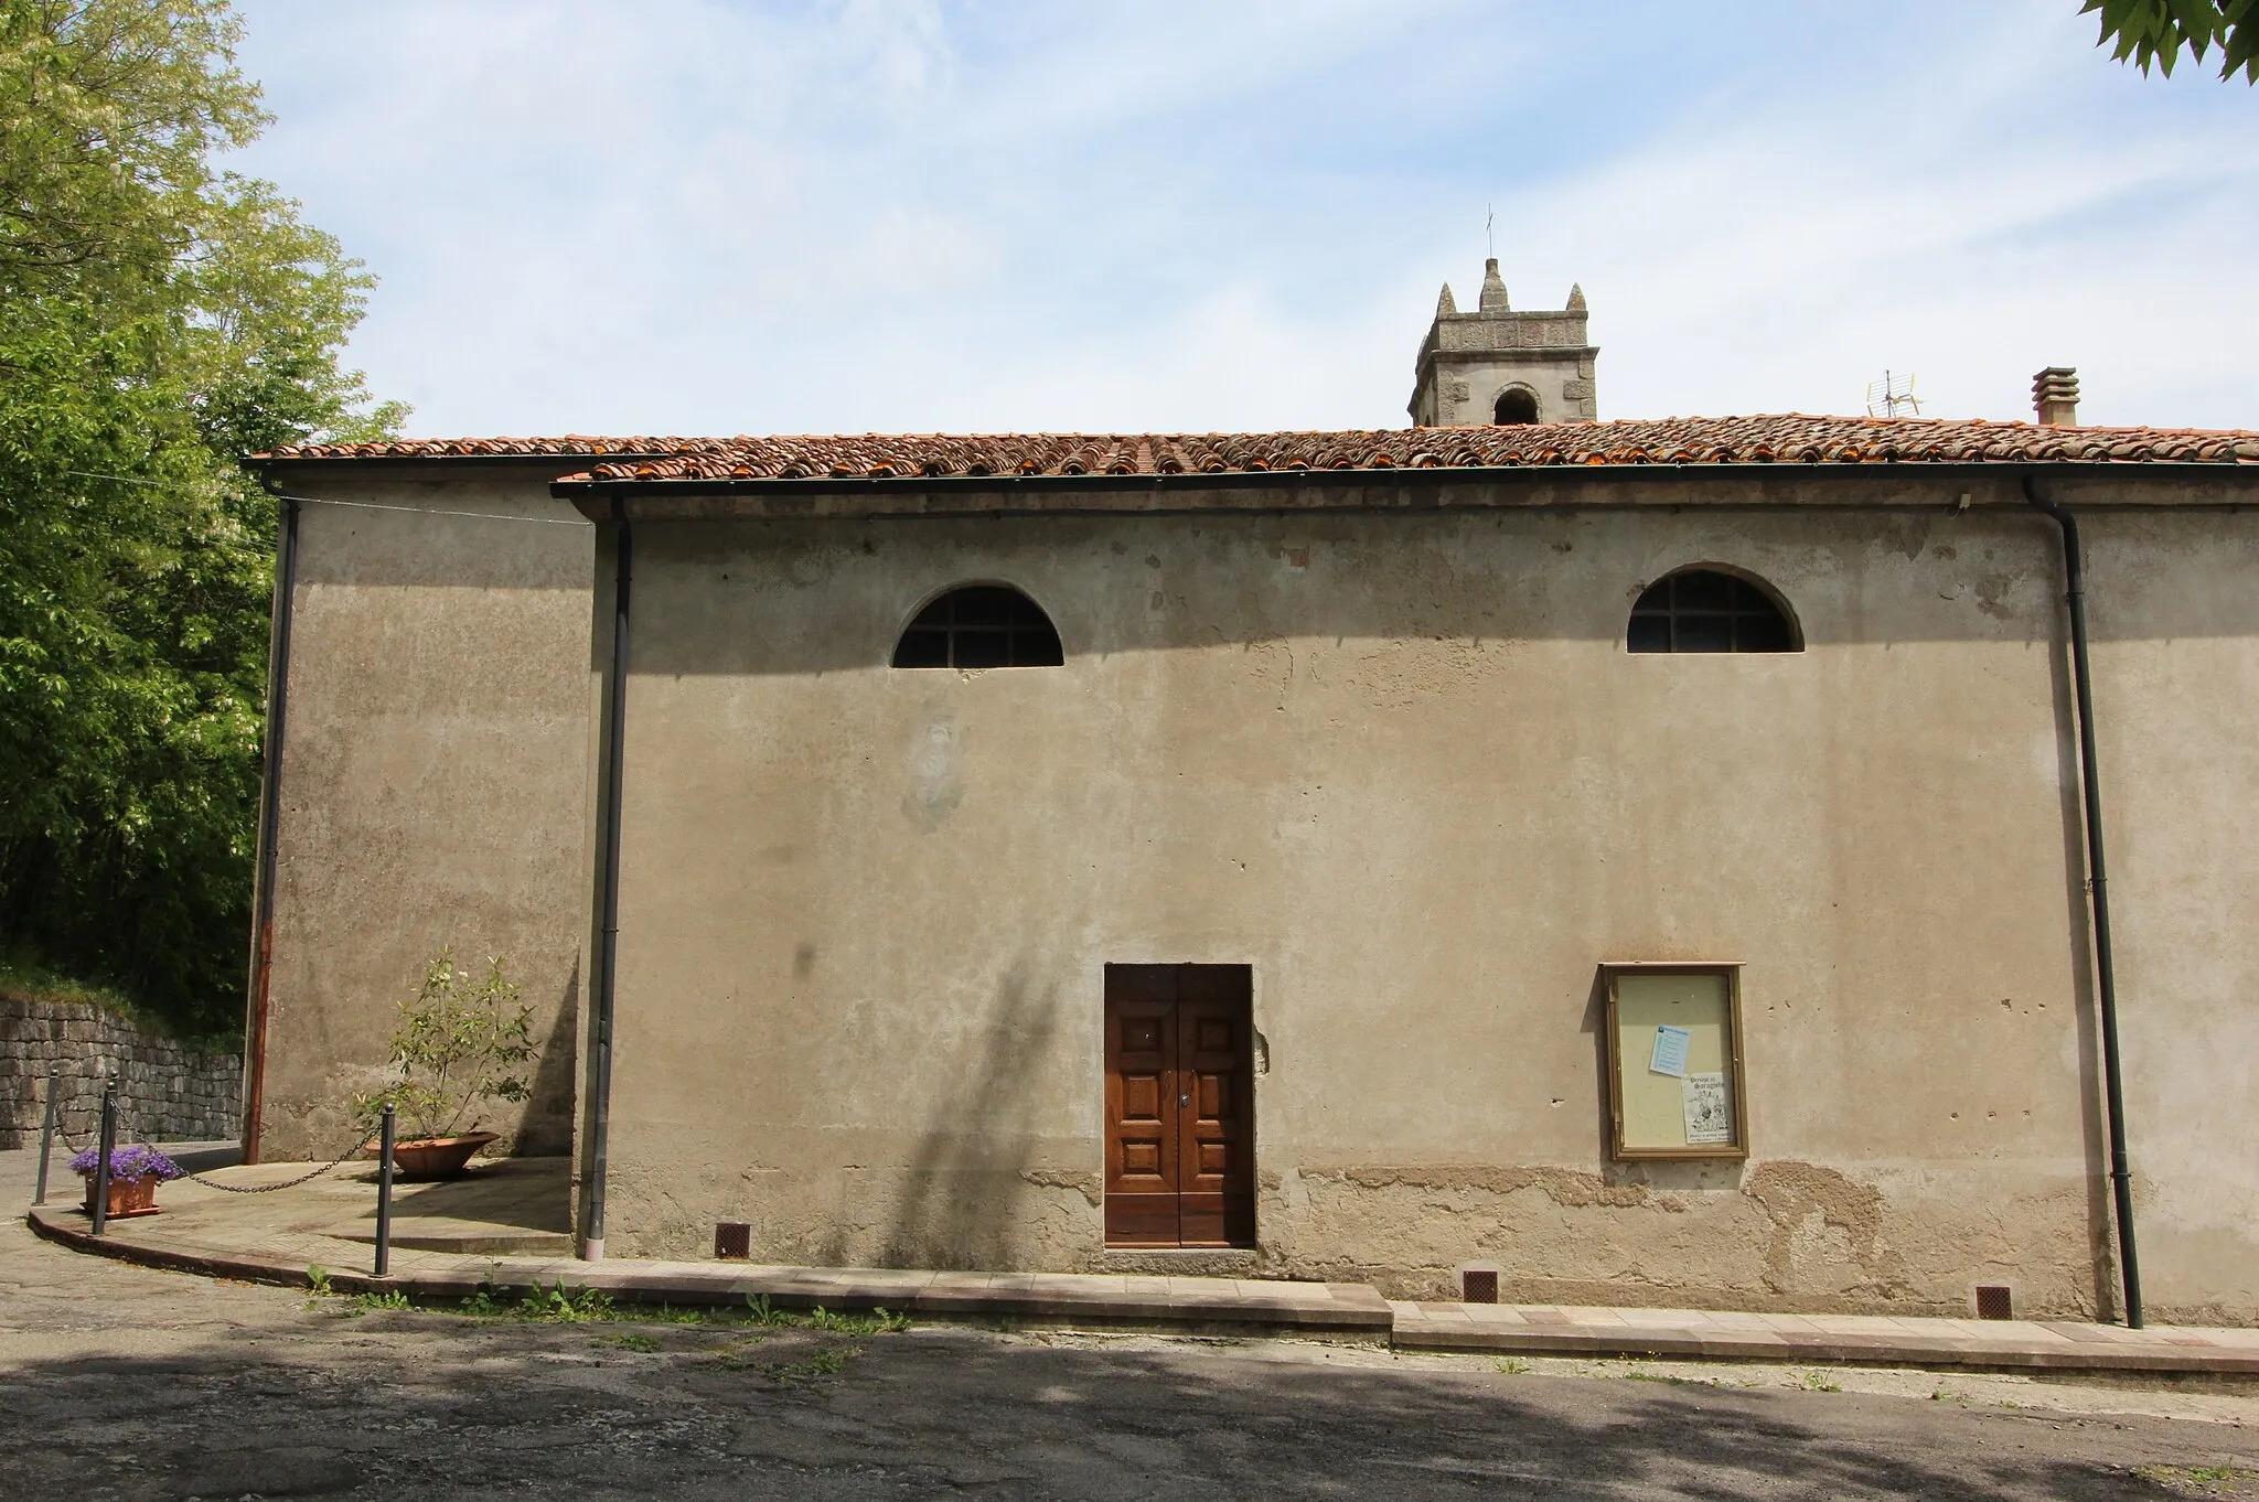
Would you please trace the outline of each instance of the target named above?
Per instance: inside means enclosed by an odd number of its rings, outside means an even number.
[[[0,1150],[38,1147],[50,1066],[72,1147],[93,1143],[102,1127],[104,1068],[117,1080],[120,1143],[237,1136],[239,1057],[183,1048],[99,1007],[0,996]]]

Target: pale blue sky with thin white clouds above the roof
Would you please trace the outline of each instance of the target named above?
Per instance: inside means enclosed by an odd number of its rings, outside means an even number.
[[[1401,427],[1484,215],[1604,418],[2259,427],[2259,90],[2076,0],[237,0],[413,434]]]

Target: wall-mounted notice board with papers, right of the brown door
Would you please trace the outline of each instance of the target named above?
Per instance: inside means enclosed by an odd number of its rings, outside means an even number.
[[[1617,1159],[1748,1156],[1739,964],[1604,964]]]

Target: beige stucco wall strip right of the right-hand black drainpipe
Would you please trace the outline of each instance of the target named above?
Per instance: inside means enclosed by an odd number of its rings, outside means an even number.
[[[2259,1321],[2259,524],[2090,517],[2142,1292]]]

